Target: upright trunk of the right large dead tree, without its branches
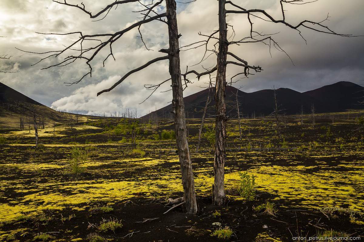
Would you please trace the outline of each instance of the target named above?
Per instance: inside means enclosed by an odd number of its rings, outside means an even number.
[[[219,0],[219,53],[217,56],[217,75],[215,90],[215,156],[214,156],[214,186],[213,203],[222,205],[225,200],[224,165],[226,146],[226,120],[225,115],[225,86],[226,86],[226,59],[227,59],[227,29],[226,29],[226,0]]]

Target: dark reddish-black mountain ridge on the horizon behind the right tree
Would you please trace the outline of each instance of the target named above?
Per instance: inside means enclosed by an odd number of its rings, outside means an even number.
[[[214,87],[210,91],[212,98],[206,115],[215,114]],[[189,95],[184,99],[186,115],[189,118],[201,118],[203,108],[205,107],[207,94],[209,89],[205,89]],[[226,114],[230,117],[237,116],[236,93],[238,95],[238,103],[240,114],[244,117],[267,116],[274,111],[274,90],[264,89],[252,93],[246,93],[237,90],[235,87],[226,86]],[[304,113],[309,113],[311,105],[314,104],[315,112],[342,112],[349,109],[364,109],[364,105],[360,104],[364,99],[364,87],[352,82],[340,81],[331,85],[326,85],[314,90],[300,93],[289,88],[276,89],[277,103],[282,114],[292,115],[301,112],[301,106]],[[166,107],[153,111],[143,118],[155,117],[156,112],[159,118],[170,117],[171,104]]]

